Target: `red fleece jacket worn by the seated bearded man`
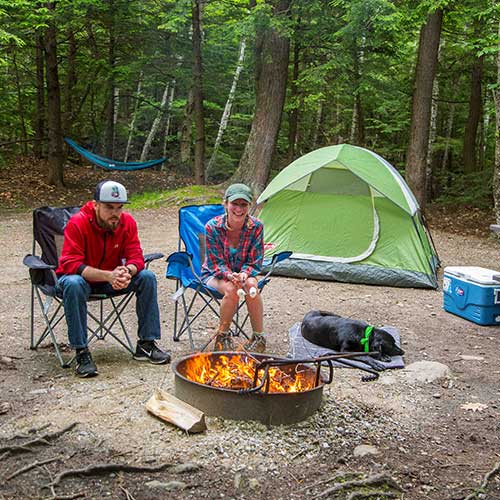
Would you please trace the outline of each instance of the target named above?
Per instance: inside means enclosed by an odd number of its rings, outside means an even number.
[[[137,224],[125,212],[114,231],[98,226],[94,204],[89,201],[73,217],[64,230],[64,244],[56,274],[81,274],[86,266],[104,271],[134,264],[144,269],[144,257],[137,234]]]

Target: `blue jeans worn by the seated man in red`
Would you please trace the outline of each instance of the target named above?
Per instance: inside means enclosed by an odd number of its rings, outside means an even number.
[[[56,293],[62,298],[68,325],[69,342],[75,349],[87,347],[87,300],[91,293],[110,296],[136,292],[136,312],[141,340],[160,338],[160,311],[158,309],[156,276],[143,269],[130,281],[127,288],[113,290],[109,283],[89,283],[79,274],[66,274],[59,278]]]

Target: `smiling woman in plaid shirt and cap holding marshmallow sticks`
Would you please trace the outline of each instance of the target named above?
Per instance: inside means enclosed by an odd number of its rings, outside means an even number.
[[[264,308],[258,292],[257,275],[264,258],[264,226],[248,214],[252,191],[245,184],[232,184],[224,194],[224,215],[208,221],[206,253],[202,279],[224,297],[220,306],[220,323],[214,351],[234,349],[229,327],[239,302],[245,294],[253,335],[243,346],[254,352],[264,352]],[[242,291],[243,292],[242,292]]]

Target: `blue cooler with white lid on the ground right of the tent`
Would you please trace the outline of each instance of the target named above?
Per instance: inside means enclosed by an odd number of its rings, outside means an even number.
[[[443,307],[478,325],[500,325],[500,273],[484,267],[445,267]]]

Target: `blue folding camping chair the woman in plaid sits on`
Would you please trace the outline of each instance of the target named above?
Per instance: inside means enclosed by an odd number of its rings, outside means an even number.
[[[179,247],[178,251],[167,258],[166,277],[176,280],[176,291],[172,295],[175,302],[174,312],[174,341],[178,342],[182,335],[188,332],[191,349],[196,350],[193,339],[193,324],[205,310],[212,311],[219,317],[220,300],[223,298],[216,289],[205,285],[200,278],[201,266],[205,259],[205,224],[218,215],[224,213],[222,205],[190,205],[179,209]],[[184,250],[183,250],[184,249]],[[290,257],[292,252],[280,252],[264,261],[264,268],[268,269],[259,280],[259,290],[270,281],[274,266]],[[188,294],[188,291],[189,292]],[[180,304],[179,304],[180,302]],[[244,335],[244,327],[248,320],[248,313],[241,319],[240,309],[245,302],[241,302],[236,311],[230,331],[234,336]],[[182,306],[180,310],[179,305]],[[182,315],[181,317],[179,317]],[[212,341],[210,338],[198,350],[205,350]]]

